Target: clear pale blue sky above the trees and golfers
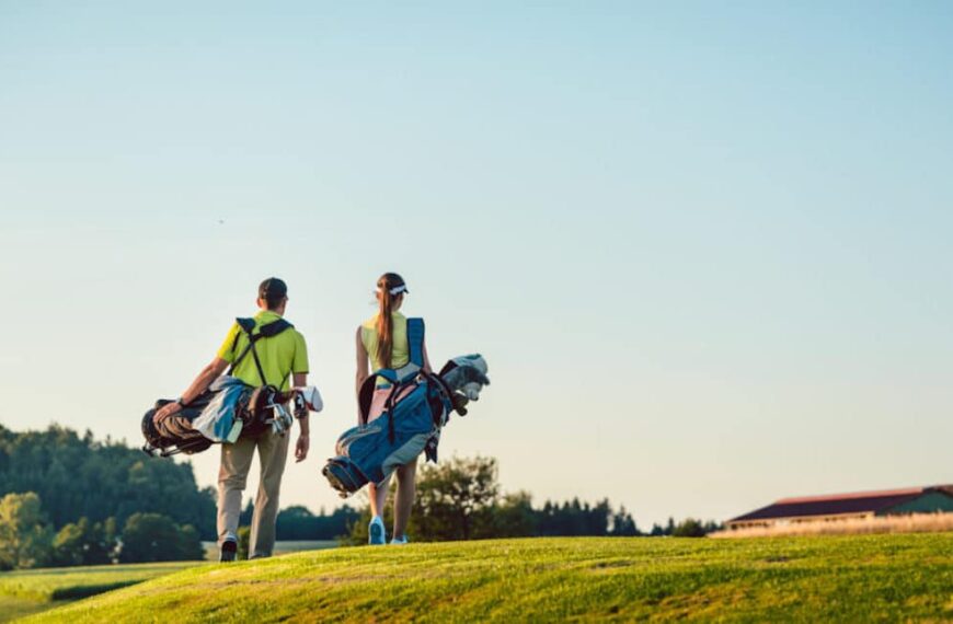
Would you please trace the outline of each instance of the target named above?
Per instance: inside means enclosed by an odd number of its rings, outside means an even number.
[[[953,482],[951,32],[948,2],[0,2],[0,423],[139,443],[278,275],[328,404],[283,504],[330,508],[398,270],[434,359],[491,366],[443,452],[537,502],[645,527]]]

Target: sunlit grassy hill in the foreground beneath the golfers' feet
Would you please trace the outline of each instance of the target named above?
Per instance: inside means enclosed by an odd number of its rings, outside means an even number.
[[[32,622],[953,621],[953,533],[540,539],[203,565]]]

